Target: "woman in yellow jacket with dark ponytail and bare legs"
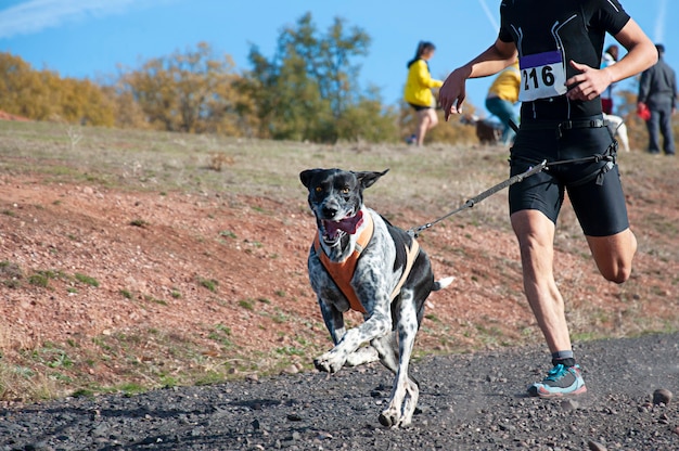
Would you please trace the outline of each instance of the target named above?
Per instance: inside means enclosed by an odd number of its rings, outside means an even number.
[[[418,130],[408,139],[410,144],[422,145],[426,132],[438,124],[432,88],[439,88],[444,82],[433,79],[430,74],[428,61],[434,56],[435,50],[432,42],[420,41],[415,56],[408,62],[403,99],[418,114]]]

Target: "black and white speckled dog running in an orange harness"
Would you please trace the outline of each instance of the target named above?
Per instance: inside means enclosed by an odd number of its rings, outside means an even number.
[[[363,190],[387,171],[308,169],[299,179],[317,223],[309,281],[334,344],[313,364],[335,373],[345,364],[379,359],[395,374],[379,421],[385,427],[406,427],[420,392],[408,365],[424,301],[452,278],[434,281],[428,256],[414,236],[363,205]],[[364,322],[346,330],[343,313],[349,309],[360,311]]]

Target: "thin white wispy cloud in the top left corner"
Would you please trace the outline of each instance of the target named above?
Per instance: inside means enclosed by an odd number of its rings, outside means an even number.
[[[88,17],[123,14],[134,0],[28,0],[0,10],[0,39],[30,35]]]

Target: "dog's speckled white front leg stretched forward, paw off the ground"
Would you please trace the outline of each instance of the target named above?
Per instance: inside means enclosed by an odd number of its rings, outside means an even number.
[[[388,302],[386,302],[388,307]],[[375,311],[358,327],[348,330],[340,343],[321,357],[313,360],[319,371],[336,373],[363,343],[384,336],[392,332],[392,315],[387,311]]]

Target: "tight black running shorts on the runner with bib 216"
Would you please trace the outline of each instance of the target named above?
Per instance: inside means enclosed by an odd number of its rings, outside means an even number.
[[[510,214],[537,209],[556,223],[567,192],[586,235],[610,236],[629,228],[617,165],[589,160],[549,167],[552,162],[604,154],[613,142],[607,127],[563,130],[561,137],[555,128],[520,130],[511,149],[511,175],[543,159],[548,168],[510,186]],[[612,152],[615,156],[615,147]]]

